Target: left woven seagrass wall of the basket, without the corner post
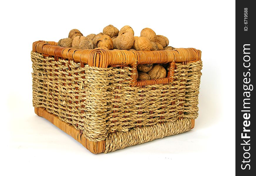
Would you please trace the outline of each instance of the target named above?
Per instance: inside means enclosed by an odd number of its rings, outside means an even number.
[[[62,121],[84,131],[85,70],[80,63],[31,52],[33,106],[43,107]],[[78,76],[79,72],[79,76]],[[78,79],[79,77],[79,79]],[[78,96],[79,95],[79,96]]]

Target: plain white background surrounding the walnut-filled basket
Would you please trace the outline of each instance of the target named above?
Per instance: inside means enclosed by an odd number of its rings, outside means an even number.
[[[234,175],[235,1],[3,1],[1,3],[0,175]],[[108,154],[34,114],[30,51],[113,24],[152,28],[175,48],[202,51],[195,128]]]

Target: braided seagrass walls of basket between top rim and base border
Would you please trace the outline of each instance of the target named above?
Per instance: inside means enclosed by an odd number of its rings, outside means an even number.
[[[174,63],[168,84],[131,87],[134,68],[91,67],[33,51],[31,59],[33,106],[72,124],[90,141],[198,115],[201,61]]]

